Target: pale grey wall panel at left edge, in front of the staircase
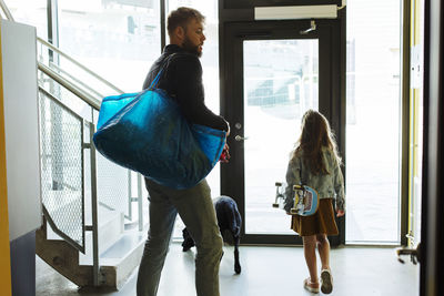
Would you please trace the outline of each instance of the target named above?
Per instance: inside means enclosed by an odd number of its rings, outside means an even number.
[[[36,28],[1,20],[9,239],[41,225]]]

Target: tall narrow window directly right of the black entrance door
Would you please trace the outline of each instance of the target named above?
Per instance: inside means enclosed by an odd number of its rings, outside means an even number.
[[[400,242],[400,8],[347,1],[346,243]]]

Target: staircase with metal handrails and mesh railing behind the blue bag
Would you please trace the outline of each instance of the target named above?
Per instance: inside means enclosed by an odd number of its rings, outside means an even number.
[[[95,153],[92,135],[101,99],[123,91],[37,42],[43,225],[36,253],[80,287],[118,289],[143,252],[142,178]]]

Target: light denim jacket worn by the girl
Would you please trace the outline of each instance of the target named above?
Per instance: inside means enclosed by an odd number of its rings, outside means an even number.
[[[336,210],[345,208],[344,177],[342,176],[341,167],[330,149],[322,149],[322,157],[329,174],[312,174],[310,167],[307,167],[303,161],[302,153],[297,153],[295,157],[290,160],[289,167],[286,170],[284,202],[284,210],[287,213],[294,204],[293,185],[296,184],[306,185],[314,188],[320,198],[335,198]]]

